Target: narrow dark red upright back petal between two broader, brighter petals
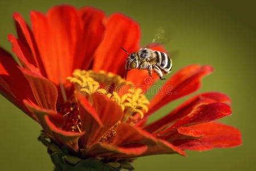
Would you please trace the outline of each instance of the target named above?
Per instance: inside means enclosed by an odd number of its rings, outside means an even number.
[[[82,34],[79,36],[80,43],[77,44],[74,69],[88,70],[94,52],[99,46],[105,31],[105,14],[103,11],[92,7],[83,7],[78,11],[82,20]]]

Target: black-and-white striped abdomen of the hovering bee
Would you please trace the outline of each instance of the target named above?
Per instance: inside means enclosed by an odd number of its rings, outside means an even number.
[[[168,74],[172,70],[172,59],[164,52],[154,51],[153,52],[156,58],[156,65]]]

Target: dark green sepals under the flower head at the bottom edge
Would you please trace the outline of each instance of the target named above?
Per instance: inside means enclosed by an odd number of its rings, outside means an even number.
[[[55,165],[55,171],[120,171],[121,169],[133,170],[133,166],[128,161],[105,163],[96,158],[82,159],[68,154],[65,146],[61,148],[51,140],[44,131],[38,138],[50,154]]]

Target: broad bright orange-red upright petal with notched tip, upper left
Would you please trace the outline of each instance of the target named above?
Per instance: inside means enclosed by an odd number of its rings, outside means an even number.
[[[64,83],[67,76],[72,75],[80,43],[82,27],[78,11],[68,5],[55,6],[46,16],[32,11],[30,17],[48,78],[57,85],[60,81]]]

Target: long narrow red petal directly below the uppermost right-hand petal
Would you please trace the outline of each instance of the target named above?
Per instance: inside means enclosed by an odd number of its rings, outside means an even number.
[[[178,119],[181,119],[184,116],[189,115],[194,109],[203,104],[210,103],[231,103],[229,96],[220,92],[205,92],[200,93],[196,96],[193,96],[189,100],[186,100],[184,103],[179,105],[174,111],[170,112],[165,117],[147,125],[144,129],[151,133],[156,133],[166,127],[171,123],[174,123]]]

